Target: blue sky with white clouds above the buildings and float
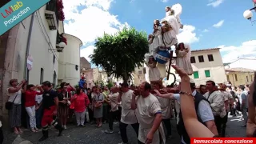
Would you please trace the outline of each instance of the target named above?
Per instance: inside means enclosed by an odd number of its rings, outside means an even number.
[[[114,34],[124,26],[152,33],[154,19],[165,17],[165,7],[182,5],[183,30],[178,42],[192,50],[221,48],[222,61],[256,57],[256,23],[243,18],[252,0],[63,0],[65,33],[83,42],[81,57],[89,62],[94,40],[104,32]],[[254,13],[256,15],[256,13]],[[256,18],[256,17],[255,17]],[[94,66],[94,65],[93,65]]]

